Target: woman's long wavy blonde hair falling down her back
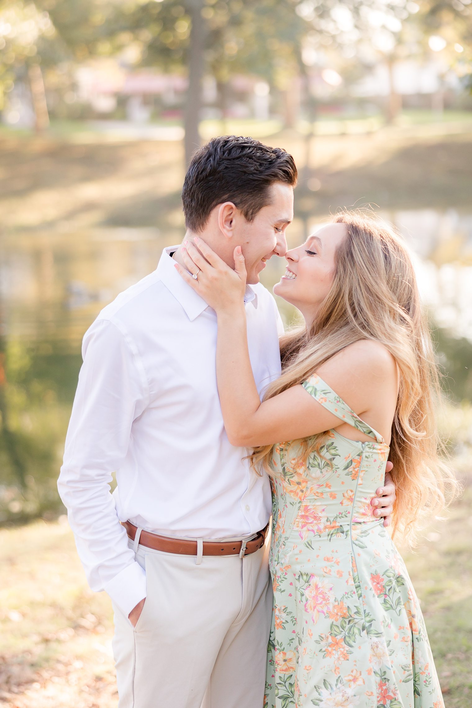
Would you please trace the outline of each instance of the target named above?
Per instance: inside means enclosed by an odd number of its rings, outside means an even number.
[[[444,507],[446,492],[454,496],[458,490],[444,464],[437,430],[440,385],[430,330],[400,237],[358,212],[342,212],[333,222],[347,229],[335,254],[333,285],[311,328],[299,327],[282,337],[282,375],[270,384],[265,399],[301,383],[353,342],[381,342],[400,372],[389,456],[396,485],[393,532],[413,543],[425,517]],[[302,455],[319,450],[325,435],[299,441]],[[257,447],[251,462],[256,469],[262,463],[273,475],[272,455],[272,445]]]

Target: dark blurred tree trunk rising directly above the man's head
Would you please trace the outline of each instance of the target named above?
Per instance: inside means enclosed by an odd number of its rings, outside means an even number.
[[[185,164],[200,147],[200,111],[202,108],[202,81],[205,72],[205,20],[202,18],[204,0],[187,0],[185,3],[192,18],[188,58],[188,89],[184,112]]]

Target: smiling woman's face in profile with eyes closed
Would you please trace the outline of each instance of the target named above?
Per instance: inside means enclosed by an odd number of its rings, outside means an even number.
[[[346,236],[345,224],[328,224],[285,255],[287,270],[274,292],[297,307],[306,321],[314,319],[328,295],[335,274],[335,253]]]

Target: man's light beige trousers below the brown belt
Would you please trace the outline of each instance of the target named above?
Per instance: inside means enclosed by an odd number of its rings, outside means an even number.
[[[200,564],[139,545],[136,559],[147,582],[136,627],[113,608],[118,708],[263,708],[267,544],[243,559],[202,556]]]

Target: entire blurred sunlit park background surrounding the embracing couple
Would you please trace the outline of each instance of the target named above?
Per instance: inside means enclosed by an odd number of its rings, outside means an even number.
[[[407,561],[470,708],[471,92],[471,0],[0,0],[0,704],[116,705],[56,490],[81,338],[180,243],[192,150],[236,134],[294,154],[289,244],[370,205],[413,253],[466,492]]]

